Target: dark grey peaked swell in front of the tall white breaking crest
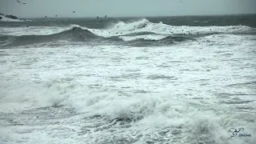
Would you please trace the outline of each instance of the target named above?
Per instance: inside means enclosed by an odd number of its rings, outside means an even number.
[[[154,38],[161,37],[161,38]],[[130,38],[130,40],[129,40]],[[128,40],[127,40],[128,39]],[[0,36],[0,45],[6,46],[27,46],[34,44],[50,44],[53,46],[54,42],[68,41],[68,42],[87,42],[94,45],[103,44],[107,45],[114,42],[114,45],[121,46],[166,46],[172,45],[174,42],[183,42],[186,40],[192,40],[185,36],[179,35],[166,35],[166,34],[155,34],[154,32],[135,32],[130,34],[123,34],[118,36],[110,36],[107,38],[98,36],[90,32],[90,30],[84,30],[79,26],[72,26],[69,30],[64,30],[58,34],[49,35],[2,35]]]

